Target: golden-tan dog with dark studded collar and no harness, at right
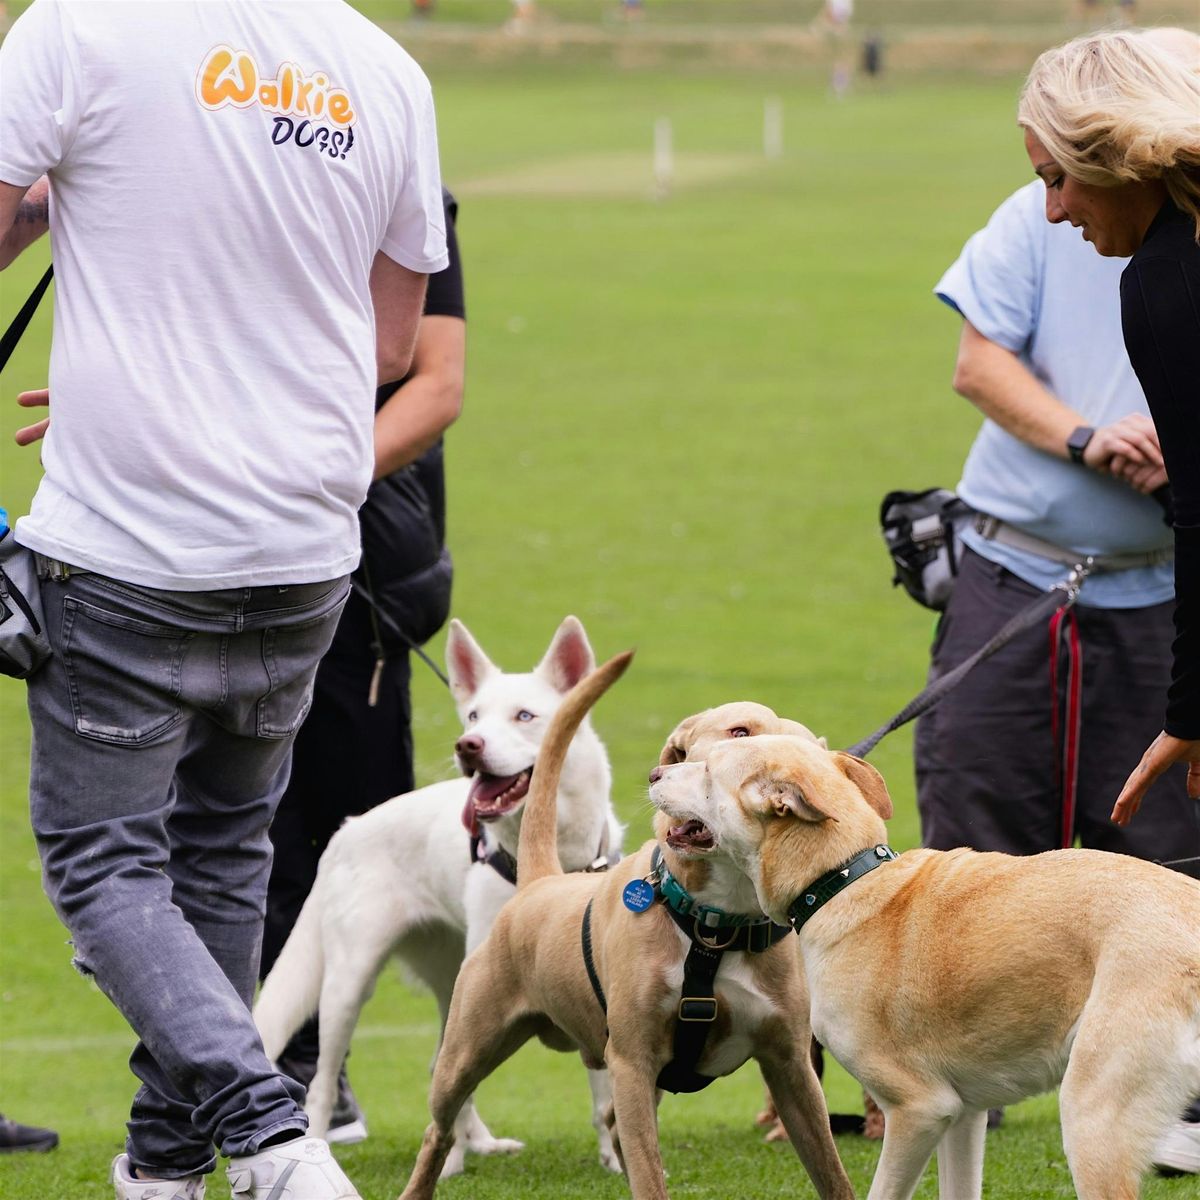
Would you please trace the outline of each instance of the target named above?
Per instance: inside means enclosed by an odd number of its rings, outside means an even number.
[[[908,1200],[935,1148],[942,1200],[978,1198],[986,1110],[1060,1081],[1079,1196],[1135,1200],[1200,1092],[1200,883],[1090,850],[889,862],[882,778],[800,738],[660,768],[650,799],[702,822],[773,920],[812,913],[812,1027],[887,1115],[869,1200]]]

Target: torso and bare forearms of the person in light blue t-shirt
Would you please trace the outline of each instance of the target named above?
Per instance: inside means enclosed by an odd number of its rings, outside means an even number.
[[[1078,230],[1049,224],[1044,197],[1038,181],[1009,197],[935,289],[965,322],[955,388],[986,418],[959,496],[1072,552],[1159,552],[1158,563],[1097,574],[1081,602],[1160,604],[1174,595],[1172,536],[1162,505],[1145,493],[1166,475],[1121,336],[1126,260],[1102,258]],[[1082,463],[1067,445],[1079,427],[1096,430]],[[1067,577],[1066,564],[974,529],[964,540],[1038,588]]]

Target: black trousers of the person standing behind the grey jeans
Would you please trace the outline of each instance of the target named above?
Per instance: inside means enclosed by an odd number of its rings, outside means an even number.
[[[271,824],[275,859],[266,894],[263,979],[292,932],[337,828],[347,817],[414,786],[408,652],[385,659],[372,707],[367,702],[376,670],[371,640],[366,604],[352,593],[317,671],[312,708],[293,748],[292,778]],[[316,1020],[296,1033],[287,1054],[316,1061]]]

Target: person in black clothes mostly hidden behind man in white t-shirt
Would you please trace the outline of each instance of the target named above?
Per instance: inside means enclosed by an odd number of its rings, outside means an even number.
[[[457,204],[449,192],[443,200],[450,265],[430,276],[410,372],[376,394],[374,482],[359,510],[356,587],[317,671],[271,826],[260,979],[288,940],[338,826],[414,787],[408,650],[428,641],[450,611],[442,434],[462,407],[466,356]],[[314,1019],[293,1037],[280,1069],[307,1086],[317,1051]],[[344,1069],[338,1084],[328,1138],[360,1141],[366,1122]]]

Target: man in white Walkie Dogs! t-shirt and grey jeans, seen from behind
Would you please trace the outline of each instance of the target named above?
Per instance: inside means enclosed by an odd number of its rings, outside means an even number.
[[[428,83],[341,2],[36,0],[0,48],[0,239],[43,175],[30,810],[77,965],[140,1038],[118,1200],[194,1200],[215,1152],[238,1200],[355,1198],[250,1002],[376,384],[446,264]]]

